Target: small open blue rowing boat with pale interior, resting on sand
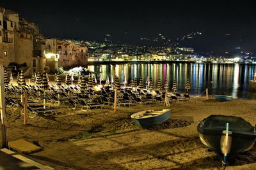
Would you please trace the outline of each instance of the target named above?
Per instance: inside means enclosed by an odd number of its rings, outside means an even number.
[[[144,110],[131,115],[131,118],[143,129],[163,123],[171,117],[171,110]]]

